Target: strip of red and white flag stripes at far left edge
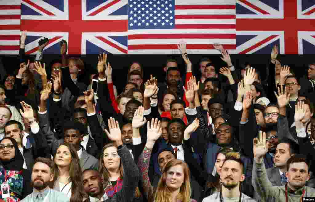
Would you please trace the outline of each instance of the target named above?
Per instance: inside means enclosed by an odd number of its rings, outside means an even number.
[[[19,54],[20,0],[0,0],[0,54]]]

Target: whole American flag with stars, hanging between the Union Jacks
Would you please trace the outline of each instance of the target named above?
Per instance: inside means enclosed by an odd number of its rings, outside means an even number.
[[[128,54],[217,53],[236,48],[235,0],[129,0]]]

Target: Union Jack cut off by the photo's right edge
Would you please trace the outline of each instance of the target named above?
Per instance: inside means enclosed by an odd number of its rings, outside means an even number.
[[[314,54],[314,0],[237,0],[238,54]]]

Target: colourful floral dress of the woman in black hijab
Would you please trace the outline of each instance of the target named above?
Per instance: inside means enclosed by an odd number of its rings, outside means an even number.
[[[7,181],[5,178],[7,176]],[[2,198],[2,191],[0,189],[0,201],[5,202],[16,202],[20,201],[22,198],[23,191],[23,176],[20,170],[5,170],[3,166],[0,165],[0,184],[8,183],[10,187],[10,197]]]

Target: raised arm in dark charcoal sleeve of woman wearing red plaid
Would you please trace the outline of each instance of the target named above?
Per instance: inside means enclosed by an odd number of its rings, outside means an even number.
[[[118,121],[114,118],[108,120],[109,131],[105,130],[108,138],[117,147],[117,153],[123,164],[123,191],[119,194],[119,201],[132,202],[135,197],[135,190],[138,186],[140,174],[129,149],[123,145],[121,131]]]

